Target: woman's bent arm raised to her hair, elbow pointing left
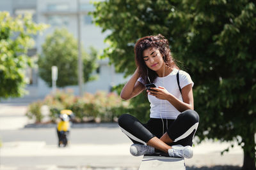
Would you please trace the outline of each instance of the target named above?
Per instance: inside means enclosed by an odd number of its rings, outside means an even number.
[[[137,81],[138,78],[140,78],[140,75],[138,74],[137,68],[130,80],[125,84],[124,88],[122,89],[122,92],[120,94],[120,97],[122,99],[128,100],[132,97],[138,96],[138,94],[140,94],[145,89],[145,86]]]

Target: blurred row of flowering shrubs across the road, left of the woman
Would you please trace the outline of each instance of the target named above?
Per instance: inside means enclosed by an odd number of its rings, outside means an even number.
[[[95,94],[85,93],[83,97],[78,97],[74,96],[70,90],[58,90],[55,95],[46,96],[44,102],[41,102],[40,105],[38,103],[30,104],[31,109],[27,116],[38,115],[40,113],[39,107],[43,104],[48,106],[49,117],[52,122],[56,122],[56,118],[58,118],[60,111],[63,109],[72,110],[76,122],[95,121],[95,118],[100,122],[114,122],[117,117],[129,111],[129,102],[122,101],[113,92],[99,91]],[[34,109],[35,106],[38,106],[37,110]],[[40,115],[42,114],[40,113]]]

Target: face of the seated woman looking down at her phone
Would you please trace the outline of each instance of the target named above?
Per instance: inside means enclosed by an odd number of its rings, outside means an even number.
[[[143,59],[148,68],[157,71],[163,66],[163,55],[157,48],[148,48],[143,51]]]

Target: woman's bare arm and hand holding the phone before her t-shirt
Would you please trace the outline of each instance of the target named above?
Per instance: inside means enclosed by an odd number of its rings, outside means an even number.
[[[182,88],[182,99],[183,102],[177,99],[177,97],[170,94],[164,87],[151,88],[157,90],[157,92],[147,90],[152,96],[156,96],[158,99],[163,99],[169,101],[177,110],[180,112],[185,110],[194,110],[194,99],[192,84],[186,85]]]

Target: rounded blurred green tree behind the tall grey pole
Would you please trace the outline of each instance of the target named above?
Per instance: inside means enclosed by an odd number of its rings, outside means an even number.
[[[56,29],[53,34],[47,36],[42,45],[42,55],[38,59],[40,77],[51,87],[51,67],[58,67],[58,87],[77,85],[77,40],[67,29]],[[97,67],[97,50],[90,48],[86,53],[82,48],[84,81],[93,80],[90,76]]]

